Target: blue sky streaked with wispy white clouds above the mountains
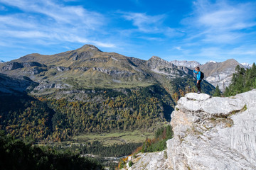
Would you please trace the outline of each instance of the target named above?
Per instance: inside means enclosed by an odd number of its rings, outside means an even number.
[[[85,44],[149,60],[256,60],[256,1],[0,0],[0,60]]]

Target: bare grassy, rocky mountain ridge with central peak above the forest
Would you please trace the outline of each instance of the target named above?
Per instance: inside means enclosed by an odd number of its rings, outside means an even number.
[[[59,98],[63,96],[63,91],[137,88],[152,84],[159,84],[169,94],[174,94],[176,89],[170,81],[175,84],[178,78],[186,78],[186,81],[194,79],[188,67],[177,66],[160,57],[153,56],[145,61],[114,52],[102,52],[93,45],[56,55],[26,55],[1,64],[0,72],[11,77],[28,77],[38,83],[31,91],[33,95],[54,94]],[[188,88],[188,84],[177,85],[183,86],[183,91],[186,86]],[[214,89],[207,82],[206,86],[207,93]]]

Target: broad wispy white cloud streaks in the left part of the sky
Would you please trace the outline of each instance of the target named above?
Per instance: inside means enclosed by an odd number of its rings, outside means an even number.
[[[36,39],[48,43],[93,43],[100,47],[114,47],[106,40],[96,40],[93,35],[102,33],[107,18],[101,13],[87,11],[82,6],[65,6],[49,0],[0,0],[6,6],[14,6],[22,12],[0,16],[2,38]],[[68,39],[68,38],[69,39]],[[42,40],[38,40],[42,38]]]

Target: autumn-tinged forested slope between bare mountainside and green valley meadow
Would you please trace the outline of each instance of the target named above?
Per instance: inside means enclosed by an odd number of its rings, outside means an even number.
[[[159,86],[127,90],[127,94],[110,92],[112,97],[101,92],[103,98],[97,102],[1,96],[1,130],[21,140],[60,142],[80,132],[153,130],[170,119],[173,101]]]

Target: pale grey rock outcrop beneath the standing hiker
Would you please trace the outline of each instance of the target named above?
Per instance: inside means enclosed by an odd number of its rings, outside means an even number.
[[[186,94],[171,125],[167,149],[139,155],[129,169],[256,169],[256,89],[229,98]]]

